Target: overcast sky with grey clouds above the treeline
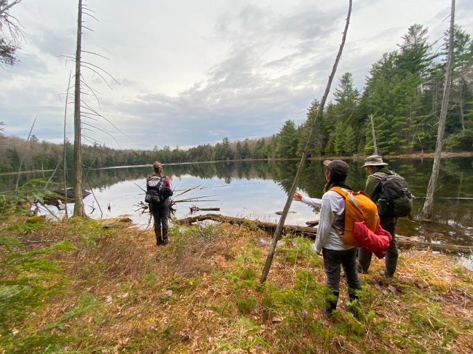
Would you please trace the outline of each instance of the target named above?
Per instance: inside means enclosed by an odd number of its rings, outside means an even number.
[[[0,69],[0,121],[6,133],[34,133],[62,140],[64,95],[73,63],[77,2],[23,0],[12,9],[24,26],[21,63]],[[89,0],[100,22],[84,17],[84,60],[101,66],[121,84],[83,71],[99,91],[93,122],[123,149],[191,147],[276,133],[288,119],[300,124],[314,97],[321,97],[341,41],[348,1],[157,1]],[[347,71],[362,88],[371,64],[412,24],[429,27],[431,42],[448,28],[446,0],[354,1],[337,77]],[[456,23],[473,33],[473,1],[457,1]],[[442,22],[443,21],[443,22]],[[107,77],[105,75],[105,77]],[[94,97],[87,104],[99,109]],[[332,99],[332,95],[329,97]],[[73,137],[73,104],[67,132]],[[101,131],[84,131],[118,148]],[[72,140],[72,139],[71,139]],[[87,143],[87,141],[84,141]]]

